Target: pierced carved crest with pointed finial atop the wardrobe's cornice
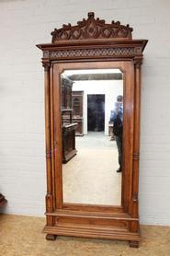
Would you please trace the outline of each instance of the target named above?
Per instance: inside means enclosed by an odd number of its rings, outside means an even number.
[[[104,19],[95,18],[93,12],[88,13],[88,18],[78,21],[76,26],[63,24],[62,29],[54,29],[51,32],[52,42],[57,41],[76,41],[93,39],[124,39],[131,40],[129,25],[123,26],[119,21],[112,21],[106,24]]]

